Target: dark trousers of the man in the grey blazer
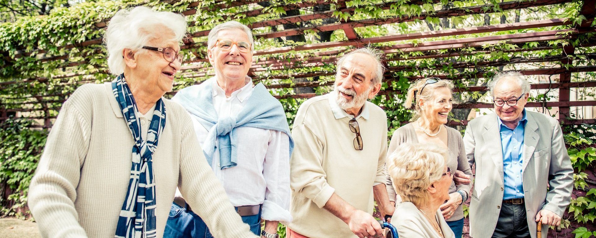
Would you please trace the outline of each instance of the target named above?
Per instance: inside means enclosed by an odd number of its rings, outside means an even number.
[[[526,206],[502,203],[493,238],[530,238],[527,227]]]

